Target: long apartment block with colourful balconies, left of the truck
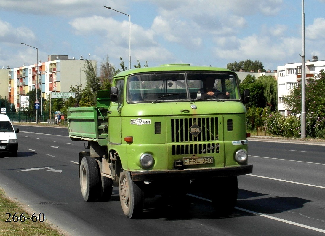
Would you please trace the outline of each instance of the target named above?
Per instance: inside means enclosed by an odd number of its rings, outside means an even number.
[[[95,65],[96,60],[89,62]],[[67,55],[48,55],[47,61],[39,60],[37,65],[24,63],[22,67],[13,68],[7,73],[9,101],[19,110],[32,89],[41,89],[42,97],[47,99],[51,92],[69,92],[71,85],[85,85],[84,66],[82,56],[68,59]]]

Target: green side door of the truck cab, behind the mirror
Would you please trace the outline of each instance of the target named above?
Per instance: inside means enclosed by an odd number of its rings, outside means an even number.
[[[109,142],[122,143],[121,139],[121,109],[124,98],[124,80],[116,80],[115,86],[118,88],[118,100],[111,102],[110,115],[108,116]]]

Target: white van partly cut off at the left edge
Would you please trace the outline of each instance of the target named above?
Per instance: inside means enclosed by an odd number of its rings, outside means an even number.
[[[7,115],[0,114],[0,156],[2,152],[11,152],[11,156],[17,156],[18,141],[16,133],[19,129],[14,130]]]

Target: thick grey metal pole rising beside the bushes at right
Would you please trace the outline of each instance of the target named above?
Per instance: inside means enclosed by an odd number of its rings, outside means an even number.
[[[302,0],[301,137],[306,138],[305,3]]]

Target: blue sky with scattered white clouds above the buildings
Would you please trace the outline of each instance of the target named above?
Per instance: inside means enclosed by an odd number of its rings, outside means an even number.
[[[0,68],[48,55],[131,68],[187,63],[226,68],[258,60],[265,70],[301,62],[299,0],[0,0]],[[305,59],[325,60],[325,0],[306,0]]]

